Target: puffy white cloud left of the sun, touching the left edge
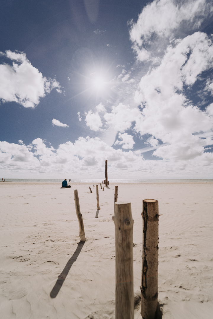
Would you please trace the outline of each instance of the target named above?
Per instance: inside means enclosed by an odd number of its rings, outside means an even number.
[[[14,101],[25,108],[34,108],[52,89],[61,93],[59,83],[55,79],[43,77],[25,53],[7,50],[1,55],[13,63],[0,64],[0,101]]]

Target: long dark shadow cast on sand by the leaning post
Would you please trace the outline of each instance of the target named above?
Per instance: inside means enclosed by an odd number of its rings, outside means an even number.
[[[51,298],[56,298],[57,294],[59,293],[59,290],[61,289],[61,286],[63,285],[63,282],[65,281],[66,276],[68,275],[68,272],[70,271],[70,268],[72,267],[72,264],[76,261],[77,257],[80,254],[81,249],[84,246],[84,242],[80,241],[78,243],[78,246],[72,255],[72,257],[68,260],[65,268],[63,269],[62,273],[58,276],[58,279],[56,281],[55,286],[52,288],[52,291],[50,293]]]

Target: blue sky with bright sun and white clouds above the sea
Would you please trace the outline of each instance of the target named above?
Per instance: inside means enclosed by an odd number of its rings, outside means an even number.
[[[213,178],[213,3],[7,0],[4,178]]]

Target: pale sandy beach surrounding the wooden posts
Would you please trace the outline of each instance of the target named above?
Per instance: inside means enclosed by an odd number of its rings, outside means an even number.
[[[114,186],[104,191],[99,186],[101,210],[95,218],[92,184],[61,189],[54,183],[0,183],[2,319],[115,318]],[[79,243],[74,189],[84,220],[84,245]],[[163,319],[213,318],[212,191],[213,183],[118,184],[118,200],[132,203],[136,296],[142,200],[159,201],[158,301]],[[140,303],[134,318],[141,318]]]

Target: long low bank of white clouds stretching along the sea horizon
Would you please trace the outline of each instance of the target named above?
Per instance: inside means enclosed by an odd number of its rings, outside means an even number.
[[[187,152],[187,150],[186,150]],[[192,156],[193,157],[193,156]],[[109,178],[209,178],[213,174],[213,154],[182,160],[144,160],[139,151],[115,150],[100,138],[79,137],[57,149],[46,146],[41,138],[30,145],[0,142],[0,172],[7,176],[60,178],[72,174],[74,178],[102,178],[105,159],[108,159]],[[181,175],[180,175],[181,174]],[[111,177],[110,177],[111,176]]]

